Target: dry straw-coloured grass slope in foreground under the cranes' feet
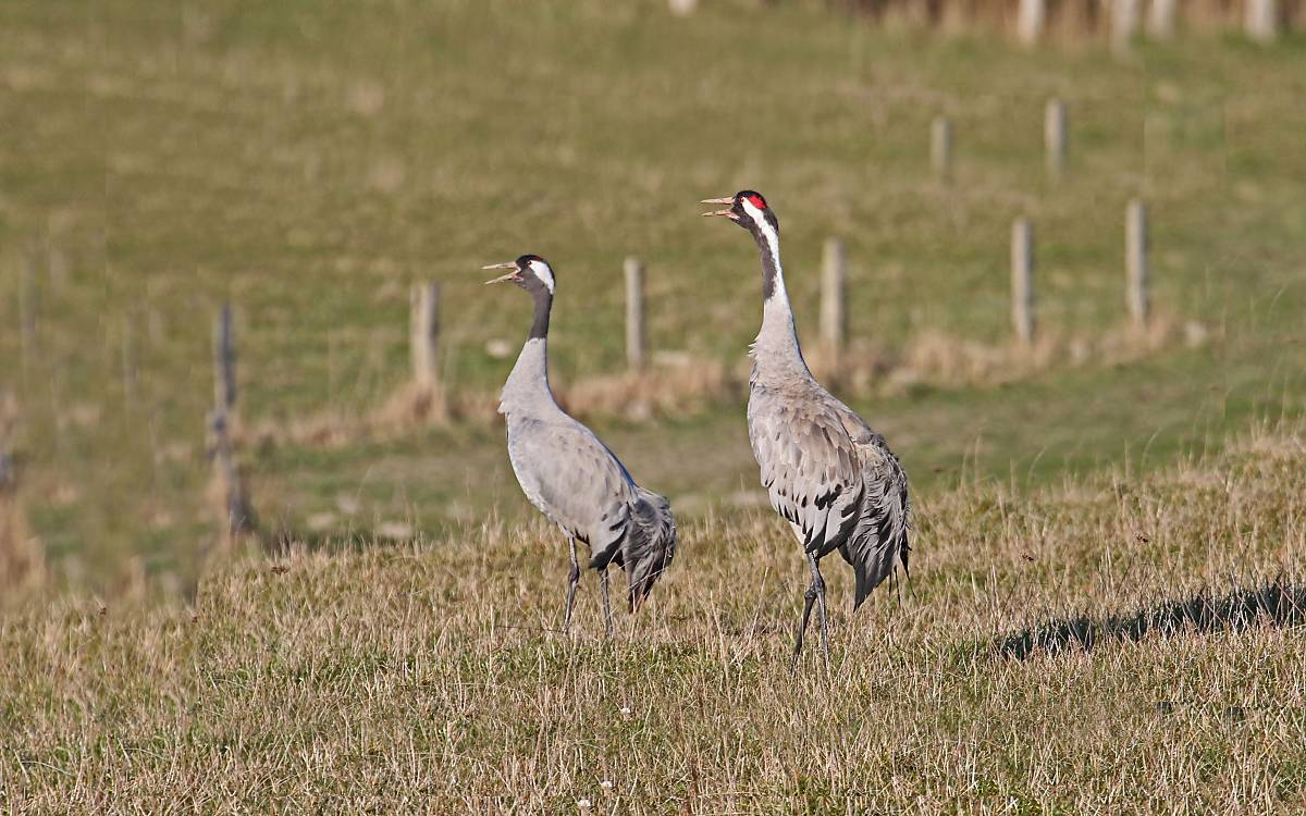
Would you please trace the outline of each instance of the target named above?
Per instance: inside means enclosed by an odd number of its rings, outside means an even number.
[[[605,641],[542,524],[214,572],[193,608],[0,619],[24,813],[1293,813],[1306,435],[1145,478],[939,491],[913,577],[788,668],[782,525],[688,522]],[[837,559],[835,559],[837,560]]]

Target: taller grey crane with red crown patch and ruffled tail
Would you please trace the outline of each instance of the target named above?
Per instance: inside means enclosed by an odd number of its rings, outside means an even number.
[[[744,227],[761,252],[761,330],[751,349],[748,439],[771,505],[789,521],[811,568],[793,659],[797,663],[802,654],[815,603],[829,662],[820,559],[837,550],[853,567],[854,611],[897,564],[905,572],[912,524],[906,473],[884,437],[821,388],[807,368],[780,266],[780,221],[767,200],[746,189],[703,204],[729,204],[704,215]]]

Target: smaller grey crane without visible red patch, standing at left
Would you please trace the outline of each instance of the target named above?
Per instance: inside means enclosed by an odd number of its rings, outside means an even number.
[[[598,571],[603,593],[603,623],[613,635],[607,594],[607,567],[626,569],[628,606],[633,612],[675,556],[675,520],[665,496],[635,483],[620,460],[593,431],[569,416],[549,388],[549,312],[555,275],[538,255],[491,264],[485,269],[511,269],[486,283],[516,283],[535,303],[530,334],[499,397],[499,413],[508,426],[508,458],[521,491],[556,524],[571,544],[571,576],[563,632],[571,628],[580,561],[576,542],[589,544],[589,565]]]

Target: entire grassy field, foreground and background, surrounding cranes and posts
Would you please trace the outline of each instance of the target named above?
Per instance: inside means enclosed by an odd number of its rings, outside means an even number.
[[[0,616],[0,809],[1292,812],[1303,65],[1301,33],[1017,48],[818,3],[7,0],[0,542],[18,530],[44,573],[40,603],[0,585],[25,607]],[[802,565],[730,385],[756,253],[696,204],[743,187],[780,215],[804,341],[821,244],[845,242],[836,390],[921,518],[901,597],[849,618],[832,576],[824,679],[784,668]],[[1021,215],[1032,350],[1008,313]],[[479,266],[522,252],[558,270],[555,383],[680,521],[614,644],[589,589],[580,637],[547,631],[565,555],[494,414],[529,306]],[[646,418],[596,397],[622,388],[629,255],[665,389]],[[389,410],[431,279],[447,423]],[[298,542],[272,564],[209,556],[223,302],[252,499]]]

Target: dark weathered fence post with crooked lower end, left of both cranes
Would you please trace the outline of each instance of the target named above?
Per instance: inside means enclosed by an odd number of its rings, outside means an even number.
[[[222,503],[225,518],[219,534],[225,546],[242,533],[255,529],[253,509],[240,483],[231,441],[231,424],[236,403],[236,351],[231,321],[231,304],[222,304],[213,328],[213,411],[209,413],[209,450],[213,457],[213,477]]]

